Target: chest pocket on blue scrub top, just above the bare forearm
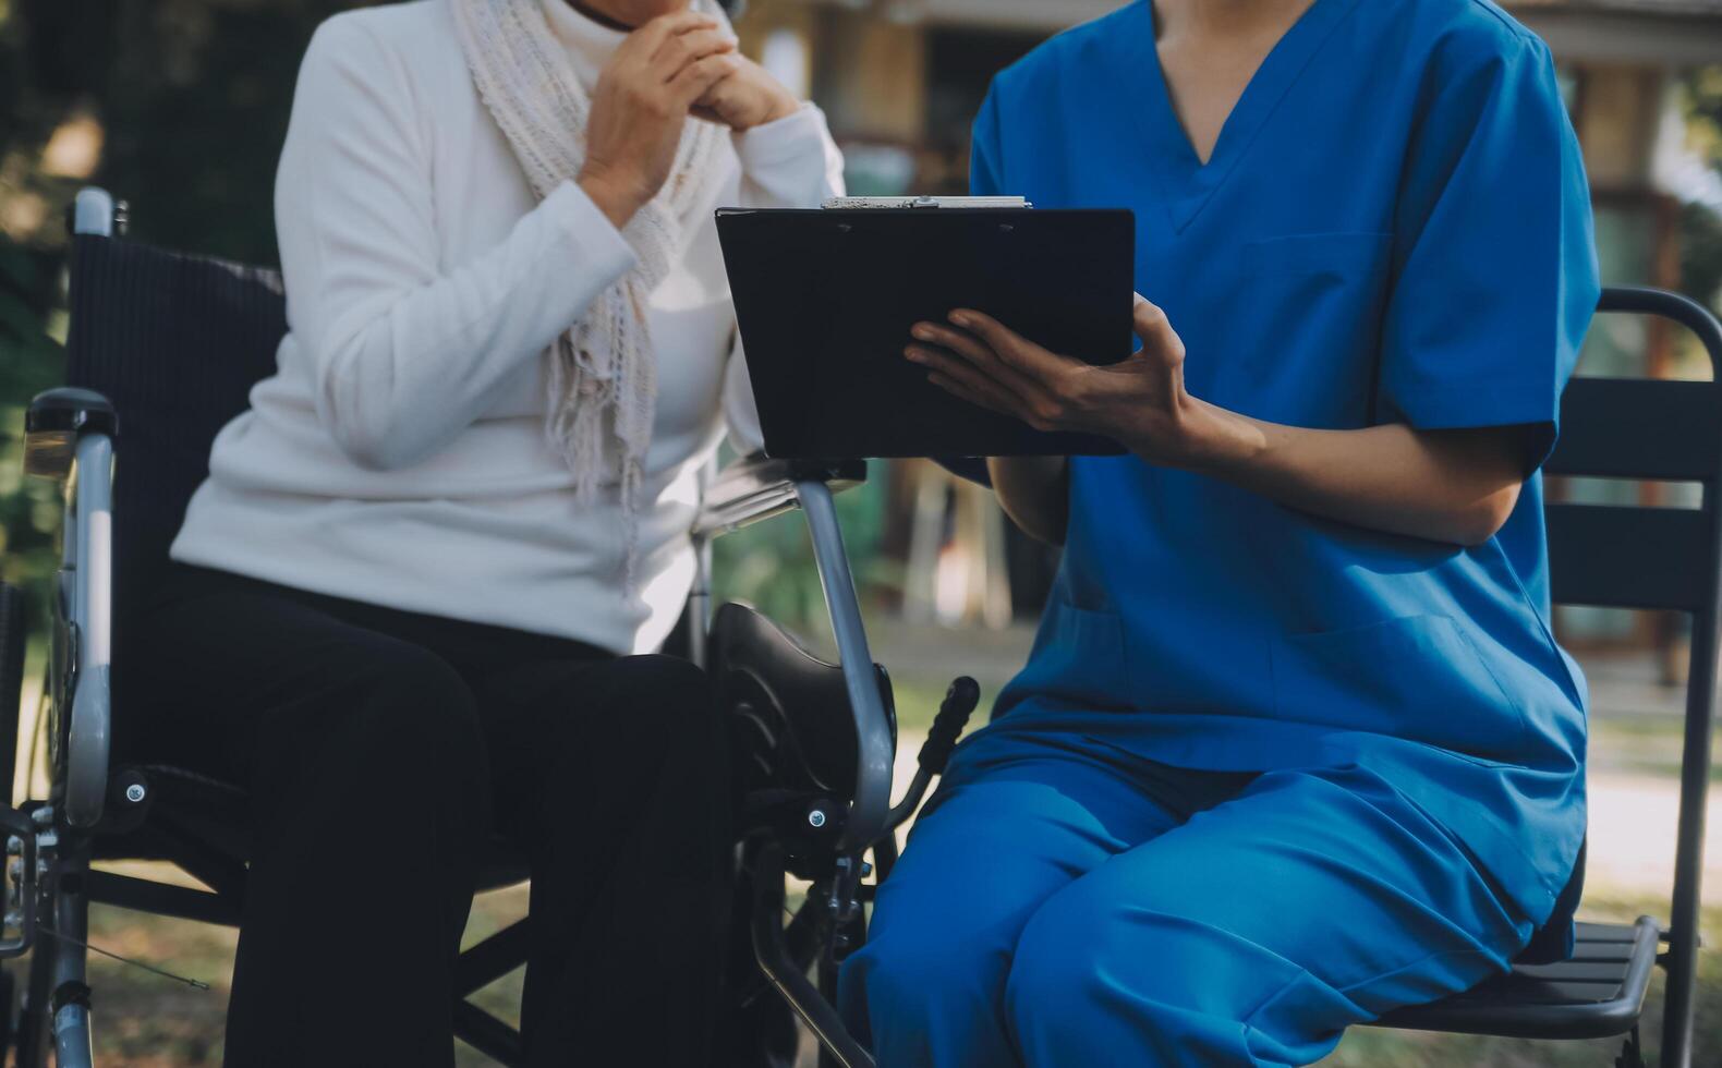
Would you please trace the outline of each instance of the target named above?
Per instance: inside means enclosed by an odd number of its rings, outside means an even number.
[[[1240,250],[1243,286],[1221,389],[1248,415],[1347,429],[1369,417],[1393,234],[1290,234]],[[1192,360],[1192,367],[1195,362]],[[1217,398],[1212,398],[1217,400]],[[1219,401],[1224,403],[1224,401]]]

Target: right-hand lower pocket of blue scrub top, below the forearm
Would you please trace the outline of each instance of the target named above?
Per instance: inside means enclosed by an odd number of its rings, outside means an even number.
[[[1481,760],[1522,758],[1529,729],[1460,625],[1410,615],[1273,644],[1279,717],[1419,741]]]

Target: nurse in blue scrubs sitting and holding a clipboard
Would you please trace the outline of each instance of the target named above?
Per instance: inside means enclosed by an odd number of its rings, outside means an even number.
[[[1137,217],[1142,348],[907,358],[1116,458],[994,460],[1064,562],[844,970],[882,1068],[1304,1065],[1569,934],[1584,680],[1538,465],[1598,296],[1488,0],[1140,0],[1000,74],[975,193]],[[1152,303],[1150,303],[1152,301]]]

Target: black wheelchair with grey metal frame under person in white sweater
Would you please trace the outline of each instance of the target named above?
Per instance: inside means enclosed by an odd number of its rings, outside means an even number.
[[[112,767],[110,751],[127,727],[131,617],[165,567],[186,503],[208,474],[215,432],[245,410],[251,386],[276,370],[286,332],[277,274],[121,239],[124,205],[115,210],[100,189],[84,189],[72,214],[71,386],[36,398],[26,441],[28,470],[59,479],[67,501],[45,727],[50,791],[17,810],[0,806],[0,835],[14,856],[0,956],[33,949],[15,1030],[10,1009],[0,1011],[0,1039],[15,1044],[19,1068],[46,1065],[50,1046],[62,1068],[91,1065],[84,982],[91,903],[239,922],[250,856],[246,827],[236,817],[245,791],[186,768]],[[737,723],[747,787],[744,856],[749,866],[765,861],[766,873],[751,875],[761,897],[775,901],[773,920],[782,916],[785,870],[820,887],[794,932],[754,925],[763,959],[785,975],[806,973],[821,946],[837,942],[839,925],[854,928],[863,851],[882,839],[894,842],[890,829],[913,811],[932,775],[920,775],[911,798],[890,808],[890,686],[866,648],[832,503],[833,491],[864,477],[861,463],[742,460],[711,482],[694,529],[701,567],[680,646],[718,677]],[[797,506],[808,517],[840,665],[806,653],[753,610],[727,605],[711,613],[709,541]],[[21,596],[0,584],[0,775],[7,780],[22,649]],[[112,679],[110,667],[117,667]],[[959,692],[963,699],[942,710],[940,737],[954,737],[975,706],[971,682]],[[932,753],[949,753],[949,744]],[[892,856],[889,846],[882,851]],[[91,861],[121,858],[172,861],[208,889],[91,868]],[[527,875],[523,860],[498,842],[480,889]],[[827,915],[839,922],[828,923]],[[503,1065],[520,1063],[520,1035],[467,997],[525,963],[529,923],[472,946],[456,966],[456,1035]],[[828,977],[832,954],[823,956]],[[0,1003],[9,1006],[10,989],[7,975]],[[808,1011],[828,1013],[823,1006]],[[846,1035],[833,1042],[854,1046]],[[0,1058],[3,1049],[0,1042]]]

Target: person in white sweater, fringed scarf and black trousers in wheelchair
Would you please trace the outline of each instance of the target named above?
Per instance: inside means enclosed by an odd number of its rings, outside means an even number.
[[[722,732],[663,644],[725,413],[718,205],[839,189],[711,0],[420,0],[312,40],[289,332],[134,658],[143,744],[250,789],[226,1063],[453,1063],[484,846],[530,858],[530,1065],[704,1063]]]

